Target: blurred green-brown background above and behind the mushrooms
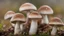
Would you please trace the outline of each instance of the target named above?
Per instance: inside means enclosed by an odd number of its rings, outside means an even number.
[[[26,2],[34,4],[37,8],[42,5],[49,5],[54,11],[53,16],[61,18],[64,22],[64,0],[0,0],[0,23],[8,25],[9,22],[4,20],[5,13],[9,10],[19,12],[20,5]]]

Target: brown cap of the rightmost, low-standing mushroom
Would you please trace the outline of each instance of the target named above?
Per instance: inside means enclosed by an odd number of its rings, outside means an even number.
[[[54,18],[51,18],[49,25],[51,25],[51,26],[63,26],[64,24],[60,18],[54,17]]]

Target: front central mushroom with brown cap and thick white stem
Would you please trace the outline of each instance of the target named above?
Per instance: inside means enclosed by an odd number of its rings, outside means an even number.
[[[32,12],[28,15],[28,18],[31,19],[29,35],[36,34],[38,28],[38,20],[41,19],[42,16],[37,12]]]

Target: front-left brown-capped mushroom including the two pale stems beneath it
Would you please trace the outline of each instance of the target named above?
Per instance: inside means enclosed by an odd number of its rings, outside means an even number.
[[[20,30],[23,31],[23,23],[25,23],[25,16],[21,13],[16,13],[10,20],[11,23],[15,24],[14,34],[20,34]],[[21,26],[21,28],[20,28]]]

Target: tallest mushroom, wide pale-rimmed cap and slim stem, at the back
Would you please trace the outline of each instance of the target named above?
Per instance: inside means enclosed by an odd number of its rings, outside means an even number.
[[[30,14],[30,12],[32,11],[36,11],[37,8],[35,5],[33,5],[32,3],[24,3],[20,6],[19,11],[20,12],[24,12],[27,13],[27,21],[26,24],[28,23],[29,19],[28,19],[28,15]]]

